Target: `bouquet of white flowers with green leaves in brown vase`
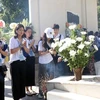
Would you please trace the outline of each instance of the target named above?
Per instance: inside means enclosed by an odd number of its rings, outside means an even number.
[[[94,45],[93,35],[88,36],[88,39],[84,31],[80,31],[80,36],[77,35],[76,25],[69,26],[69,29],[70,37],[61,41],[56,39],[51,47],[68,62],[70,70],[74,72],[75,80],[78,81],[82,79],[83,69],[98,48]]]

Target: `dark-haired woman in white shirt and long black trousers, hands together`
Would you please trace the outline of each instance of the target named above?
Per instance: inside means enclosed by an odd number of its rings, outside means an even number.
[[[25,97],[25,75],[26,62],[22,48],[27,51],[26,43],[23,41],[24,26],[18,24],[15,28],[15,36],[10,39],[10,71],[12,78],[13,99],[19,100]],[[28,51],[27,51],[28,52]]]

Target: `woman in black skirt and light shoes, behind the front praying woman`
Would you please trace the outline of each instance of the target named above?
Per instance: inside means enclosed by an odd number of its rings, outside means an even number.
[[[36,94],[32,90],[32,86],[35,86],[35,48],[34,48],[34,42],[32,35],[32,29],[31,27],[25,28],[25,41],[28,48],[28,53],[24,52],[24,56],[26,57],[26,94],[32,95]]]

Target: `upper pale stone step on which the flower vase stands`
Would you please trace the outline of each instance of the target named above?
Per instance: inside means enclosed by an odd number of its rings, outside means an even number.
[[[83,79],[92,77],[94,76],[83,76]],[[63,76],[50,80],[47,82],[47,90],[58,89],[100,99],[100,82],[72,81],[73,78],[73,76]]]

